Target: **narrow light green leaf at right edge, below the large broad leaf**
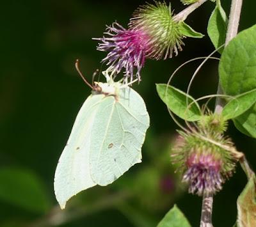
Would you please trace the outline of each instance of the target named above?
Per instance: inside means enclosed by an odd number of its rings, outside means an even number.
[[[222,116],[225,120],[236,118],[250,109],[256,102],[256,89],[237,95],[223,108]]]

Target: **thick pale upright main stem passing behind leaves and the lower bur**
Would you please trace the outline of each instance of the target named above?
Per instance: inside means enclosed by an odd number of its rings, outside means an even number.
[[[230,8],[230,15],[228,19],[228,29],[227,29],[227,35],[226,35],[226,41],[225,46],[228,45],[230,40],[234,38],[237,35],[238,26],[239,26],[239,19],[241,15],[241,8],[242,8],[243,0],[232,0],[231,8]],[[223,94],[223,91],[220,86],[220,80],[218,84],[218,91],[217,95]],[[223,110],[223,107],[225,106],[225,102],[221,100],[220,97],[216,98],[216,104],[215,104],[215,113],[220,114]],[[246,159],[244,157],[244,162]],[[205,195],[203,197],[202,201],[202,213],[201,213],[201,221],[200,221],[200,227],[210,227],[212,226],[212,203],[213,203],[213,195]]]

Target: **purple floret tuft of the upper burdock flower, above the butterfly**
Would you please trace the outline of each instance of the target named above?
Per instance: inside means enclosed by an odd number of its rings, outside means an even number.
[[[125,68],[125,77],[129,77],[131,81],[136,68],[136,77],[140,81],[141,68],[145,64],[147,53],[152,50],[147,33],[140,29],[125,29],[115,22],[107,27],[104,34],[107,36],[97,38],[101,41],[97,50],[108,52],[102,61],[107,62],[116,74]]]

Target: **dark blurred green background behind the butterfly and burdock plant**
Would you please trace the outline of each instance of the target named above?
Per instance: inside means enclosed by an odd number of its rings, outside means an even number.
[[[133,86],[144,98],[150,114],[143,163],[134,166],[113,185],[81,192],[68,202],[65,214],[56,207],[53,192],[56,164],[79,107],[90,95],[90,88],[77,75],[74,61],[80,59],[81,69],[91,80],[105,56],[105,53],[96,51],[97,42],[92,37],[102,36],[106,24],[115,20],[126,26],[133,10],[143,3],[1,1],[0,167],[30,171],[42,181],[45,196],[41,199],[36,196],[38,201],[32,200],[33,190],[26,190],[29,184],[24,185],[22,190],[16,185],[17,182],[24,182],[22,178],[17,180],[15,175],[6,176],[6,182],[12,185],[12,190],[6,194],[15,193],[31,202],[32,207],[39,208],[36,211],[26,205],[17,205],[15,201],[6,200],[3,194],[0,196],[0,226],[40,226],[40,223],[41,226],[51,226],[52,214],[58,214],[60,220],[70,217],[70,221],[61,226],[113,227],[140,223],[137,226],[150,227],[156,226],[173,203],[177,203],[192,226],[198,226],[201,199],[188,194],[184,185],[180,185],[179,176],[173,173],[175,167],[170,163],[169,153],[177,126],[157,97],[155,83],[167,82],[173,70],[184,61],[210,54],[214,47],[207,36],[201,40],[184,40],[184,50],[173,59],[148,60],[141,72],[142,82]],[[227,12],[229,5],[230,1],[225,1]],[[172,6],[174,12],[184,8],[177,0],[172,1]],[[210,1],[205,3],[186,22],[206,35],[207,20],[213,8],[214,4]],[[240,30],[255,22],[255,3],[244,1]],[[199,64],[194,62],[180,70],[174,80],[175,86],[185,90]],[[215,93],[217,76],[218,63],[210,60],[196,77],[192,95],[200,97]],[[255,166],[255,139],[237,132],[232,123],[228,133],[236,141],[237,148],[245,152],[249,162]],[[3,185],[7,185],[3,179],[0,191]],[[214,226],[234,224],[236,198],[245,184],[246,176],[238,167],[223,191],[215,196]],[[131,196],[127,198],[127,194]],[[111,205],[116,195],[124,196],[124,201]],[[40,208],[42,200],[44,208]]]

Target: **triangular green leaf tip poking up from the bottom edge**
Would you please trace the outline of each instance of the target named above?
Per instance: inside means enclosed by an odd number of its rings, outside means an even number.
[[[173,208],[164,216],[162,221],[157,227],[191,227],[188,219],[180,211],[180,209],[174,205]]]

